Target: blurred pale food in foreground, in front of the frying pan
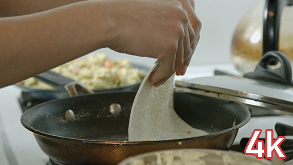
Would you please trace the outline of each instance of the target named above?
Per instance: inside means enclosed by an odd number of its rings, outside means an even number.
[[[273,165],[267,160],[226,151],[176,150],[153,152],[128,158],[119,165]]]

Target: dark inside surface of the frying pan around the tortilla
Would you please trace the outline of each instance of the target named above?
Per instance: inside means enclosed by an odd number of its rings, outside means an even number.
[[[128,140],[135,95],[136,91],[119,91],[56,99],[30,108],[22,115],[21,122],[27,129],[46,136],[123,142]],[[119,115],[109,112],[112,103],[122,106]],[[243,124],[237,125],[250,116],[246,107],[235,102],[182,92],[174,92],[174,108],[188,124],[209,133],[235,125],[239,129]],[[65,121],[68,109],[75,112],[73,122]]]

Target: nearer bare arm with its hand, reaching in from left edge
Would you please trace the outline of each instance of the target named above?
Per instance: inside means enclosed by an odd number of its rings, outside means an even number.
[[[0,87],[104,47],[160,59],[150,78],[159,85],[183,64],[195,38],[176,0],[87,0],[0,18],[0,29]]]

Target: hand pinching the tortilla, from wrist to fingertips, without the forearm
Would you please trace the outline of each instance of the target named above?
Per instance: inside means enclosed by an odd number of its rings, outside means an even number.
[[[109,48],[159,59],[160,67],[149,77],[149,82],[154,86],[165,83],[178,68],[181,68],[178,74],[184,74],[184,65],[188,66],[199,38],[189,22],[188,15],[194,16],[190,3],[177,0],[115,2],[116,5],[111,6],[115,13],[111,14],[118,27],[117,37]],[[183,6],[187,9],[183,9]],[[194,19],[191,21],[198,23]],[[198,32],[199,24],[195,24],[195,27]]]

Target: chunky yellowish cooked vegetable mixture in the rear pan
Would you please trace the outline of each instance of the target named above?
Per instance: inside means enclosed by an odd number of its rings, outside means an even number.
[[[129,59],[111,61],[107,54],[91,53],[52,69],[53,72],[79,81],[91,89],[108,89],[132,85],[141,81],[146,73],[134,68]],[[20,82],[26,87],[53,90],[54,87],[29,78]]]

